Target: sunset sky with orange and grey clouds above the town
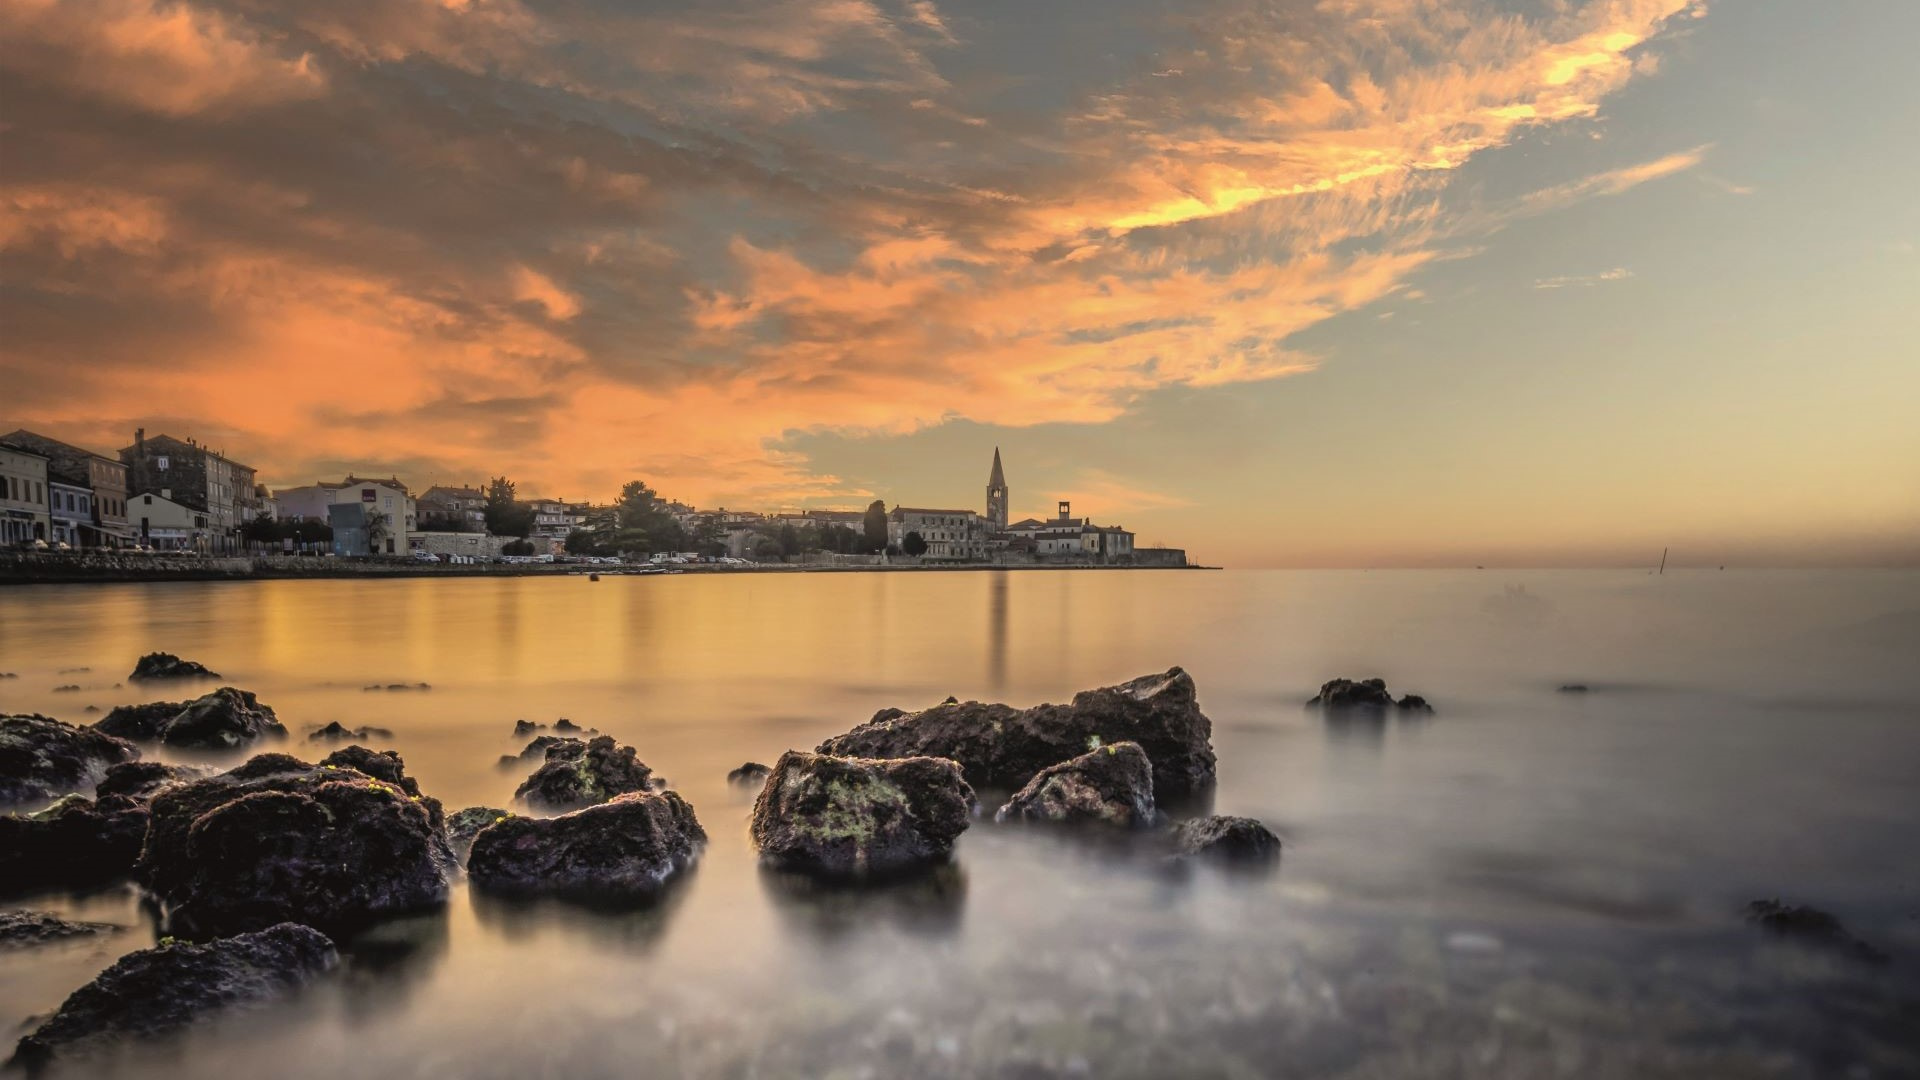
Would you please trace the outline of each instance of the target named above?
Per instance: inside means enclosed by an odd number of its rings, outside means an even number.
[[[1920,565],[1910,0],[0,0],[0,423]]]

